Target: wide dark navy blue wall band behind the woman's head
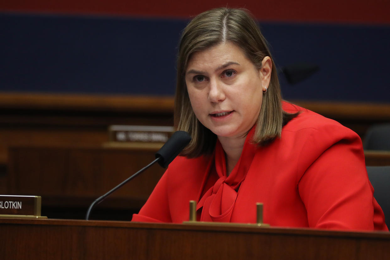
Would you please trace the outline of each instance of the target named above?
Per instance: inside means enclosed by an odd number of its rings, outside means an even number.
[[[188,20],[0,14],[0,91],[172,96]],[[320,70],[285,99],[390,103],[390,26],[262,23],[278,67]]]

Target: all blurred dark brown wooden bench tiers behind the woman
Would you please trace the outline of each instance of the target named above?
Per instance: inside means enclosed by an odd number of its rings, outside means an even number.
[[[294,103],[362,138],[372,124],[390,122],[390,104]],[[173,97],[0,93],[0,193],[41,195],[43,214],[50,209],[49,217],[74,212],[69,218],[83,218],[89,203],[149,163],[158,150],[103,147],[108,126],[172,126],[173,105]],[[390,165],[386,152],[365,156],[367,165]],[[126,210],[114,219],[131,218],[163,171],[153,166],[101,203],[91,218],[100,216],[99,207]]]

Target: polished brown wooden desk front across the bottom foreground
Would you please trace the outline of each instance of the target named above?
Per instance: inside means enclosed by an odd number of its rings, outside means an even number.
[[[388,259],[390,233],[0,219],[3,259]]]

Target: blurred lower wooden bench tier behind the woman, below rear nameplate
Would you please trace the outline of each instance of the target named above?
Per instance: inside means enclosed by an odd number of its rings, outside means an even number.
[[[49,218],[83,219],[92,201],[149,164],[157,150],[152,147],[11,147],[7,190],[3,193],[42,196],[43,214]],[[371,151],[365,156],[369,166],[390,165],[390,152]],[[164,171],[158,164],[153,165],[99,204],[96,209],[102,209],[101,215],[92,212],[91,218],[130,220],[144,205]]]

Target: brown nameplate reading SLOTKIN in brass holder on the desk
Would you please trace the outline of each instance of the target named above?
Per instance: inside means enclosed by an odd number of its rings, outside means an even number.
[[[47,218],[41,216],[41,196],[0,195],[0,218]]]

